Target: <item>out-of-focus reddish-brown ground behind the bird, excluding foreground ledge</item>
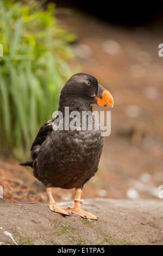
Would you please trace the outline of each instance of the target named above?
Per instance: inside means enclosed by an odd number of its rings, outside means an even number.
[[[78,36],[73,49],[85,45],[91,51],[86,58],[76,55],[71,62],[73,68],[78,66],[74,72],[96,76],[115,102],[111,135],[105,137],[99,171],[84,187],[83,197],[124,199],[128,189],[134,188],[140,199],[158,198],[158,187],[163,185],[163,57],[158,57],[162,30],[156,21],[146,27],[125,28],[78,11],[64,12],[59,10],[59,22]],[[107,53],[103,46],[106,40],[117,42],[120,52]],[[132,105],[139,109],[136,117],[128,114]],[[1,156],[0,184],[5,199],[48,202],[45,188],[32,170],[17,164]],[[55,190],[57,200],[71,200],[73,194],[73,190]]]

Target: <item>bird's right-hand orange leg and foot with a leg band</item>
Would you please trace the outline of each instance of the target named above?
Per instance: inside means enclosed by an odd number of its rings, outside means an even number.
[[[81,199],[81,194],[82,194],[82,188],[76,188],[76,196],[74,199],[74,206],[72,207],[71,212],[73,212],[73,214],[77,214],[83,218],[97,220],[97,217],[95,215],[90,214],[90,212],[84,211],[80,208],[80,204],[83,204],[83,200]]]

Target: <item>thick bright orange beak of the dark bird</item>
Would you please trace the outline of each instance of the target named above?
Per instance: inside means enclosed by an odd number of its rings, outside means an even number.
[[[114,105],[111,93],[109,93],[109,91],[103,88],[100,84],[98,84],[98,92],[94,99],[95,103],[102,107],[113,107]]]

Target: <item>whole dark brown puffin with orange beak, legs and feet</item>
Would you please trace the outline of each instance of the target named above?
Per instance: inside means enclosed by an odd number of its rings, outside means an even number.
[[[104,137],[95,124],[98,123],[92,115],[92,103],[103,107],[112,107],[113,98],[108,90],[104,89],[91,75],[79,73],[70,77],[62,88],[59,99],[58,111],[62,113],[63,129],[54,129],[57,117],[43,124],[32,144],[32,159],[23,166],[33,168],[34,176],[46,186],[49,197],[49,208],[60,214],[77,214],[83,218],[97,220],[90,212],[82,210],[80,204],[82,188],[97,172],[99,160],[102,154]],[[77,111],[80,115],[79,127],[67,129],[65,126],[67,114],[65,107],[69,107],[69,113]],[[91,113],[92,129],[89,129],[88,118],[82,117],[82,113]],[[68,114],[69,121],[76,121],[75,117]],[[86,123],[83,129],[83,123]],[[52,188],[76,188],[74,205],[62,207],[56,204]]]

